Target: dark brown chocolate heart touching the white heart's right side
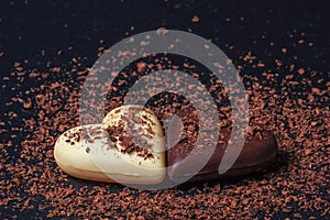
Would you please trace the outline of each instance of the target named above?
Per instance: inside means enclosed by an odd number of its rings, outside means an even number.
[[[237,177],[258,172],[272,163],[277,154],[276,140],[271,132],[262,132],[258,133],[258,135],[248,134],[240,156],[237,158],[233,166],[220,175],[219,166],[228,146],[230,130],[223,129],[220,132],[221,134],[224,134],[224,138],[219,141],[206,166],[190,178],[189,182]],[[190,153],[194,145],[191,144],[178,143],[168,150],[167,164],[169,166],[168,176],[170,180],[180,182],[183,177],[191,175],[184,158],[190,155],[193,157],[189,161],[198,162],[199,155]]]

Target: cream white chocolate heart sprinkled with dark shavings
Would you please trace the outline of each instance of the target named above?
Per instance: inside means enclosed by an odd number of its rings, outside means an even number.
[[[147,109],[113,109],[101,124],[73,128],[55,143],[54,156],[67,174],[90,180],[158,184],[165,176],[163,130]]]

